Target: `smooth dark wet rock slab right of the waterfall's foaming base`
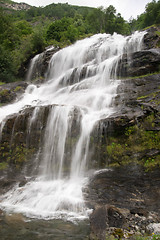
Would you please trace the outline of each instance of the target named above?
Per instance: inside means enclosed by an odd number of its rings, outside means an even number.
[[[137,213],[146,209],[145,215],[148,211],[159,213],[159,172],[146,173],[136,164],[100,172],[90,179],[88,197],[95,206],[101,203],[129,211],[137,209]]]

